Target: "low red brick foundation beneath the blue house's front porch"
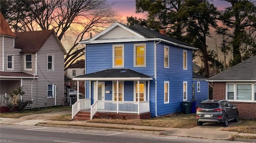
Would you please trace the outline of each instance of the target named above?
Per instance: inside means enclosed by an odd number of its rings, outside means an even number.
[[[127,113],[107,113],[107,112],[98,112],[94,115],[93,118],[110,118],[110,119],[149,119],[150,112],[142,114],[127,114]]]

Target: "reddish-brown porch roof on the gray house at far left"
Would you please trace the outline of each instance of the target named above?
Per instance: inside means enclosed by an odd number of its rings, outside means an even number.
[[[0,78],[34,78],[34,75],[25,72],[2,72],[0,71]],[[38,78],[38,76],[35,76]]]

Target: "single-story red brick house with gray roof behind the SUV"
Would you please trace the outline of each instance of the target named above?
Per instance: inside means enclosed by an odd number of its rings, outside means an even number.
[[[209,78],[213,99],[236,105],[240,118],[256,119],[256,56]]]

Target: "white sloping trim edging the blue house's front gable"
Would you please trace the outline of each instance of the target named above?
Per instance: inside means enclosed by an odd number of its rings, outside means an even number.
[[[102,32],[98,33],[96,36],[94,36],[93,38],[91,38],[91,39],[88,40],[88,41],[90,41],[90,42],[91,42],[91,41],[94,41],[94,40],[97,39],[98,37],[100,37],[100,36],[102,36],[102,35],[105,35],[105,34],[108,33],[110,30],[114,29],[114,28],[117,27],[117,26],[120,26],[120,27],[126,29],[127,31],[133,33],[134,35],[138,36],[139,38],[144,38],[144,36],[142,36],[142,35],[140,35],[140,34],[134,32],[134,31],[132,31],[131,29],[125,27],[124,25],[122,25],[122,24],[120,24],[120,23],[118,23],[118,22],[115,22],[114,24],[110,25],[108,28],[106,28],[106,29],[103,30]],[[87,43],[87,41],[84,41],[84,42],[81,41],[81,42],[79,42],[79,43]]]

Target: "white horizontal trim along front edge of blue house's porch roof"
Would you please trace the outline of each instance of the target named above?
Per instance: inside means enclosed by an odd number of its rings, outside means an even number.
[[[76,78],[73,77],[72,80],[104,80],[104,81],[110,81],[110,80],[153,80],[152,77],[150,78],[142,78],[142,77],[109,77],[109,78]]]

